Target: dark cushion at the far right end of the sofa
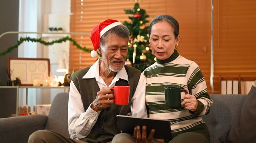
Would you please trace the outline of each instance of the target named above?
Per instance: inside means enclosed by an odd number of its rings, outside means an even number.
[[[227,143],[256,143],[256,87],[245,98],[241,114],[228,134]]]

